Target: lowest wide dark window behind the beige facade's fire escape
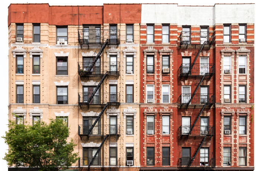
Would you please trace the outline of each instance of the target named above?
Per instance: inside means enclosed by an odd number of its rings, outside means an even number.
[[[89,165],[92,161],[92,158],[95,156],[98,148],[83,148],[83,165]],[[100,150],[97,153],[95,159],[92,162],[92,165],[101,165],[100,164]]]

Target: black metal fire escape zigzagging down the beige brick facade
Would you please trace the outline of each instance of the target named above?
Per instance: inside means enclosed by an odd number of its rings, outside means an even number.
[[[118,46],[120,42],[120,33],[119,29],[108,29],[108,30],[78,30],[78,40],[81,49],[96,47],[96,51],[94,54],[97,54],[96,57],[92,61],[83,61],[78,63],[78,73],[81,78],[89,79],[91,77],[96,78],[96,82],[93,91],[78,93],[78,103],[80,108],[87,107],[88,109],[91,106],[99,107],[99,110],[96,113],[99,113],[96,120],[93,120],[90,124],[78,125],[78,135],[82,139],[83,137],[87,137],[89,139],[90,136],[99,137],[99,141],[101,144],[97,147],[97,151],[94,152],[93,156],[90,160],[87,160],[88,165],[87,170],[92,165],[95,164],[95,158],[98,158],[99,151],[103,146],[104,142],[108,139],[109,144],[117,143],[117,140],[120,136],[120,125],[117,124],[109,124],[102,125],[100,124],[100,118],[104,111],[114,105],[120,105],[120,93],[110,92],[110,93],[100,93],[101,85],[104,80],[108,77],[119,77],[120,75],[120,65],[117,61],[110,62],[101,62],[101,56],[105,47],[115,45]],[[102,38],[101,38],[102,37]],[[106,37],[106,38],[105,38]],[[102,40],[102,41],[101,41]],[[111,91],[111,90],[110,90]],[[110,145],[109,145],[110,147]],[[100,157],[101,158],[101,157]],[[99,159],[98,159],[99,160]],[[111,159],[106,160],[103,158],[103,161],[100,161],[99,165],[109,166],[109,171],[117,170],[117,167],[120,160],[116,158],[115,162],[112,162]],[[84,162],[83,162],[83,165]]]

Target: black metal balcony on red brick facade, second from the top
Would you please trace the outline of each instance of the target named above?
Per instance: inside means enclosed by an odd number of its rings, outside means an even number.
[[[179,67],[180,77],[204,76],[212,77],[215,73],[215,64],[181,64]]]

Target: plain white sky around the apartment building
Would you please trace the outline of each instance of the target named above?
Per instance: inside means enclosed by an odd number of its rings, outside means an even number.
[[[10,3],[49,3],[46,0],[3,0],[1,2],[0,11],[0,33],[1,40],[1,62],[0,62],[0,109],[1,109],[1,118],[0,118],[0,137],[5,135],[7,131],[8,123],[8,26],[7,26],[7,16],[8,16],[8,6]],[[191,6],[214,6],[215,3],[255,3],[254,0],[94,0],[94,1],[83,1],[83,0],[51,0],[49,3],[50,6],[59,6],[59,5],[99,5],[102,6],[103,3],[177,3],[180,6],[191,5]],[[256,72],[256,70],[255,70]],[[256,97],[256,96],[255,96]],[[256,120],[255,120],[256,121]],[[256,131],[255,131],[256,135]],[[256,137],[255,137],[256,138]],[[7,152],[7,145],[4,144],[4,139],[0,138],[0,170],[7,171],[7,163],[2,160],[4,153]],[[256,148],[255,148],[256,149]],[[255,158],[256,161],[256,158]],[[256,163],[256,162],[254,162]]]

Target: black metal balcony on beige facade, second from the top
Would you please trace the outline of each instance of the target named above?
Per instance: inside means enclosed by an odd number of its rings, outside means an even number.
[[[108,76],[120,75],[120,62],[96,62],[92,70],[88,72],[93,62],[79,62],[78,73],[82,77],[102,77],[106,72]]]

